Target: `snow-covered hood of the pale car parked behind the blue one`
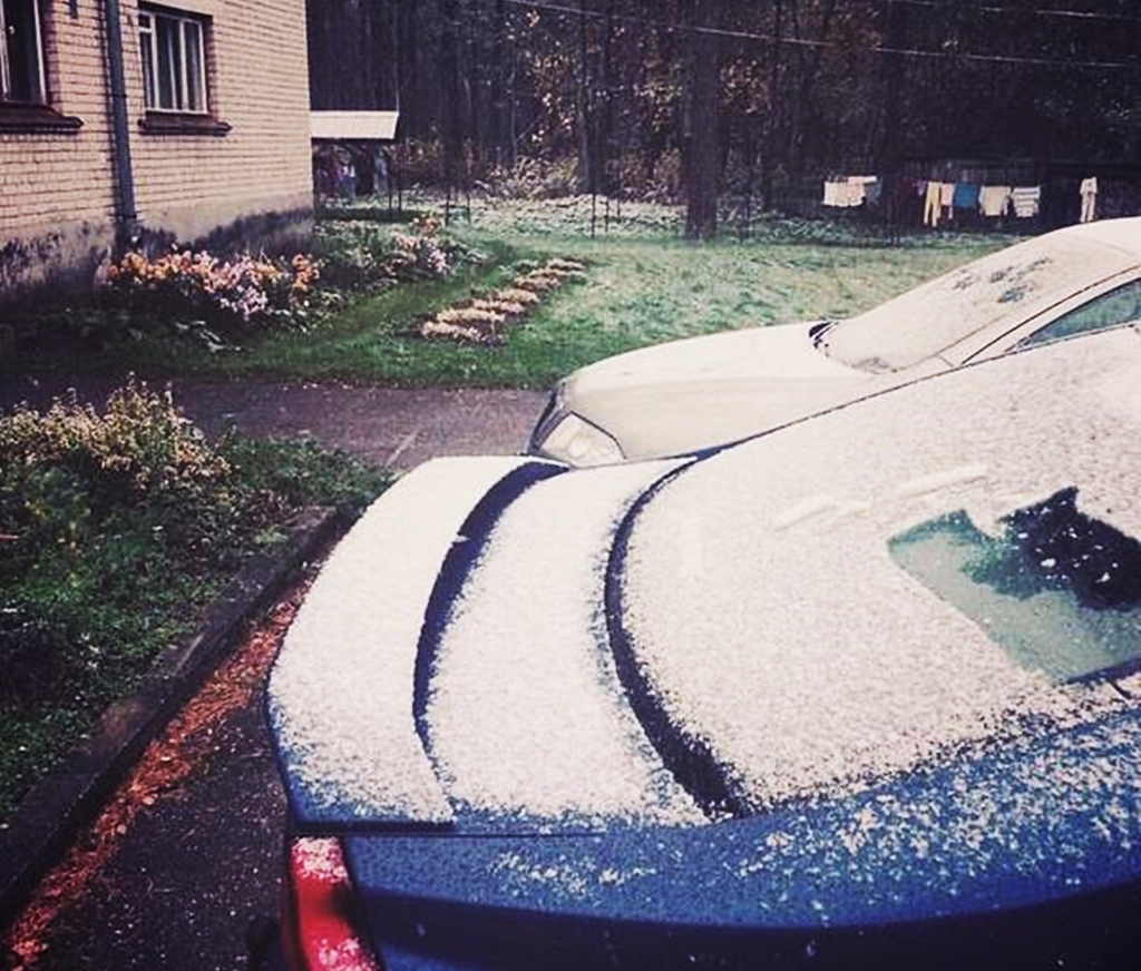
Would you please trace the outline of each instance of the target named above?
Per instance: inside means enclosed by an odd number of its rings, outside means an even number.
[[[729,331],[618,354],[569,375],[565,407],[626,458],[736,441],[899,383],[830,360],[812,324]]]

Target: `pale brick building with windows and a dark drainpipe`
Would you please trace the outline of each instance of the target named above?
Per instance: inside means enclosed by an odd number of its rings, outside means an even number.
[[[0,304],[313,214],[305,0],[0,0]]]

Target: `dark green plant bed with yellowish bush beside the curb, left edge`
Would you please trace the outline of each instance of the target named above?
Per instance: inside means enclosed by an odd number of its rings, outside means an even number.
[[[135,383],[0,417],[0,816],[298,511],[386,481],[311,442],[210,442]]]

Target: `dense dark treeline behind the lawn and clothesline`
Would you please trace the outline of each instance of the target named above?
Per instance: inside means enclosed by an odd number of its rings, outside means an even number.
[[[453,185],[774,193],[931,157],[1141,163],[1135,0],[310,0],[316,107],[399,107]],[[697,206],[701,221],[701,206]]]

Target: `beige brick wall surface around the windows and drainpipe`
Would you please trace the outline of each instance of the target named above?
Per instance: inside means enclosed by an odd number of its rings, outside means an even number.
[[[305,0],[170,0],[209,18],[209,98],[224,136],[156,134],[144,117],[138,0],[120,0],[130,152],[144,232],[192,242],[313,205]],[[104,0],[43,3],[51,106],[74,133],[0,132],[0,297],[82,276],[114,236]],[[2,111],[2,108],[0,108]]]

